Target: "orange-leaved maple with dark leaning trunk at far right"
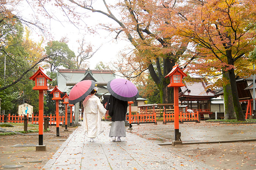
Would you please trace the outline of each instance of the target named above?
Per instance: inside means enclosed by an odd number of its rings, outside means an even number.
[[[209,0],[201,3],[186,3],[189,14],[176,13],[183,24],[166,24],[166,28],[179,30],[181,36],[189,38],[195,48],[191,50],[198,61],[190,70],[225,73],[230,91],[225,90],[224,100],[232,96],[238,120],[245,120],[238,99],[236,70],[247,69],[248,53],[255,39],[256,4],[247,0]],[[168,16],[168,14],[166,15]],[[168,17],[166,17],[168,19]],[[169,20],[171,16],[169,16]],[[169,22],[170,23],[170,22]],[[168,31],[167,31],[168,32]],[[190,63],[191,64],[191,63]],[[248,69],[247,69],[248,71]],[[239,74],[238,74],[239,75]],[[241,75],[241,74],[240,74]],[[225,81],[224,81],[225,82]]]

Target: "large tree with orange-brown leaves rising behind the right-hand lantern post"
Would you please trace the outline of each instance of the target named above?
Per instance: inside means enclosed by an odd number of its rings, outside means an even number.
[[[40,1],[40,3],[44,7],[48,1]],[[176,38],[174,32],[168,35],[162,34],[159,27],[162,20],[161,11],[163,8],[175,7],[176,1],[170,1],[168,4],[157,0],[120,0],[115,5],[108,5],[103,0],[102,3],[105,10],[99,10],[100,7],[97,6],[97,3],[91,0],[55,1],[55,5],[64,12],[64,15],[68,16],[73,24],[77,23],[73,20],[74,17],[76,19],[88,17],[82,12],[83,10],[108,17],[110,19],[109,24],[100,23],[102,28],[111,33],[116,33],[116,39],[123,37],[130,41],[137,54],[136,57],[132,58],[132,62],[143,62],[145,64],[141,70],[147,68],[149,71],[159,88],[161,102],[170,103],[172,99],[170,91],[173,89],[167,88],[169,80],[164,77],[184,53],[188,43],[186,39]],[[116,12],[119,15],[115,15]],[[93,29],[88,28],[88,30]]]

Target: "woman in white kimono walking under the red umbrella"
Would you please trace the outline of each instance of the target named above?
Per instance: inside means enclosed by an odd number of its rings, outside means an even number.
[[[100,99],[95,96],[97,90],[98,88],[94,87],[91,94],[83,101],[83,126],[90,142],[94,141],[93,139],[97,136],[97,133],[101,134],[104,131],[101,125],[101,117],[106,113],[106,109],[101,104]]]

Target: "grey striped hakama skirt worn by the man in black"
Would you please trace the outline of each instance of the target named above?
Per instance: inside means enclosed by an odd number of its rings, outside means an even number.
[[[120,136],[120,137],[126,136],[125,121],[112,122],[110,132],[109,132],[109,137],[115,137],[115,136]]]

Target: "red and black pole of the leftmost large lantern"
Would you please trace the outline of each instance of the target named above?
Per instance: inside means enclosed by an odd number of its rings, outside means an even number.
[[[44,95],[43,90],[39,90],[39,145],[43,145],[43,133],[44,133]]]

